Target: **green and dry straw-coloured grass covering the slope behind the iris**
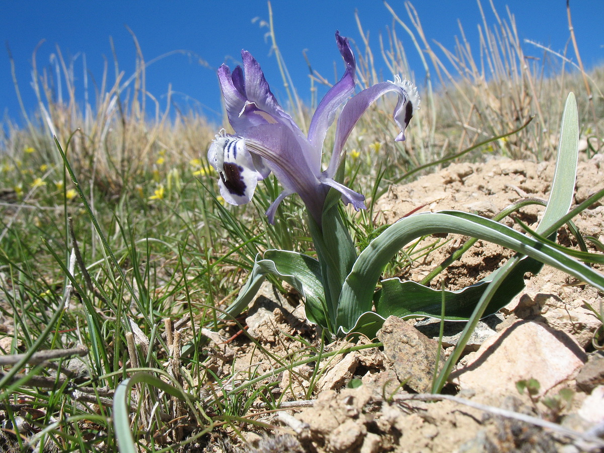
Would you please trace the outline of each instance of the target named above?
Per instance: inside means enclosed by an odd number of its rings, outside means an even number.
[[[391,140],[387,102],[376,104],[350,137],[346,179],[370,201],[370,209],[350,222],[356,243],[367,244],[383,227],[371,201],[423,165],[444,165],[466,150],[473,160],[549,158],[567,91],[588,105],[591,88],[596,115],[580,112],[583,133],[602,138],[602,70],[568,73],[567,60],[550,53],[525,64],[511,14],[496,16],[495,28],[484,19],[480,49],[470,49],[462,37],[457,49],[447,50],[424,36],[410,4],[409,21],[390,9],[396,27],[380,39],[379,54],[393,73],[413,78],[403,45],[413,37],[427,56],[428,78],[405,146]],[[358,72],[367,86],[378,81],[378,53],[358,19],[364,45]],[[272,18],[268,25],[278,48]],[[0,348],[7,356],[30,356],[2,365],[1,409],[22,427],[14,443],[36,451],[130,451],[132,445],[158,451],[185,448],[211,430],[237,433],[242,425],[260,424],[251,402],[278,406],[275,377],[251,370],[246,382],[229,387],[233,375],[216,376],[205,366],[201,329],[217,322],[216,310],[239,291],[255,254],[268,248],[312,252],[300,201],[291,197],[281,205],[284,220],[274,228],[262,215],[279,191],[273,179],[260,184],[255,205],[224,205],[205,160],[219,127],[195,112],[171,116],[169,99],[162,107],[148,97],[141,52],[128,79],[115,62],[116,82],[105,74],[94,101],[88,88],[83,100],[76,97],[75,62],[58,53],[57,76],[51,76],[40,74],[35,61],[34,54],[39,109],[33,116],[24,111],[25,126],[6,124],[0,137],[6,151],[0,157],[0,312],[9,326]],[[545,77],[545,63],[556,62],[556,73]],[[327,80],[315,72],[315,83]],[[53,86],[62,86],[63,97],[53,96]],[[298,124],[308,124],[314,106],[305,106],[295,91],[290,99]],[[149,102],[154,115],[147,114]],[[535,120],[519,133],[472,149],[518,129],[532,114]],[[425,252],[411,245],[405,256],[413,261]],[[295,356],[266,352],[276,369],[342,353],[297,341]],[[31,360],[36,352],[79,345],[89,350],[82,358],[66,352],[52,366]],[[320,373],[317,368],[314,376]],[[19,425],[19,417],[30,428]]]

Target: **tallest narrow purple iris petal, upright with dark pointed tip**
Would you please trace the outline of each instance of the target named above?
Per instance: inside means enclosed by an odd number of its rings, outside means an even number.
[[[325,140],[327,129],[333,123],[339,106],[355,92],[355,54],[352,53],[348,38],[340,36],[339,31],[336,31],[336,42],[346,63],[346,71],[339,82],[333,85],[323,99],[321,99],[315,114],[312,116],[308,130],[308,140],[313,147],[319,149],[318,167],[321,165],[321,150],[323,149],[323,141]]]

